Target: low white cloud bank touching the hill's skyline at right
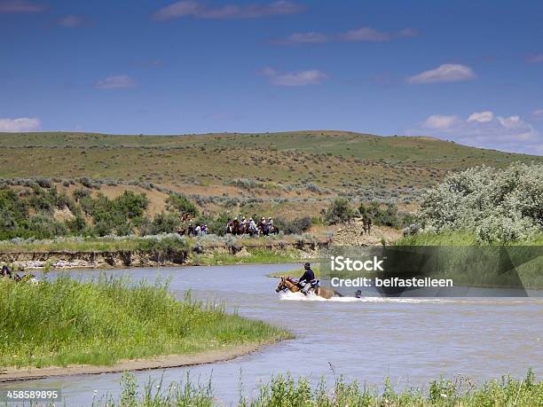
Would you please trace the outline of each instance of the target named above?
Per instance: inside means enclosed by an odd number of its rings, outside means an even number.
[[[456,115],[432,114],[407,133],[523,153],[539,153],[538,146],[543,145],[543,137],[520,116],[495,116],[491,111],[471,113],[467,119],[460,119]]]

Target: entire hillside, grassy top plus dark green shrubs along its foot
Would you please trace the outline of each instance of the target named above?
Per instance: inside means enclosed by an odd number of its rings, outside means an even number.
[[[240,213],[273,216],[286,233],[354,215],[402,228],[447,173],[511,161],[543,157],[341,131],[0,133],[0,239],[153,235],[186,226],[186,214],[216,234]]]

